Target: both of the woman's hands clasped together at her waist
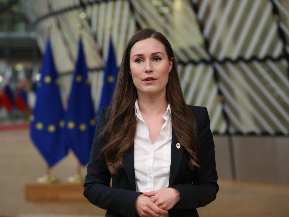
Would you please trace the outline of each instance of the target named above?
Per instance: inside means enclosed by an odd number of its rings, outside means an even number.
[[[135,210],[141,217],[159,217],[168,213],[179,200],[179,191],[171,187],[144,192],[135,200]]]

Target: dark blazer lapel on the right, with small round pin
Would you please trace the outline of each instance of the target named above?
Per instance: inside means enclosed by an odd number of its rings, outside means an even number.
[[[181,145],[181,147],[178,149],[176,147],[176,144],[178,143],[178,140],[176,138],[174,129],[172,129],[172,146],[171,146],[171,167],[170,167],[170,173],[169,173],[169,186],[173,184],[173,182],[176,179],[176,176],[178,174],[183,153],[184,153],[184,148]]]

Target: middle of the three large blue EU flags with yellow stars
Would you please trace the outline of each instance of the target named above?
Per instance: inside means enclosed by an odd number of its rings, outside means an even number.
[[[82,165],[88,163],[94,138],[94,108],[90,90],[91,80],[87,76],[82,40],[78,43],[78,57],[65,116],[64,139]]]

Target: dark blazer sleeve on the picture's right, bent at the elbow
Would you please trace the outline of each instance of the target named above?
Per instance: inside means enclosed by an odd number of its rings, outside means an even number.
[[[206,206],[216,199],[219,190],[213,135],[210,130],[210,119],[206,107],[203,107],[202,121],[199,128],[200,148],[198,162],[200,167],[194,168],[192,184],[176,184],[181,198],[175,209],[195,209]]]

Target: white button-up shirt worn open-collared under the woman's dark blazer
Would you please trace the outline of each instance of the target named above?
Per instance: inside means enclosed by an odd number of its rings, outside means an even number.
[[[166,121],[161,128],[159,137],[152,144],[148,126],[138,108],[138,100],[135,101],[137,127],[134,140],[134,164],[135,185],[139,192],[159,190],[169,185],[172,145],[171,114],[171,108],[168,105],[166,113],[163,115],[163,119]]]

